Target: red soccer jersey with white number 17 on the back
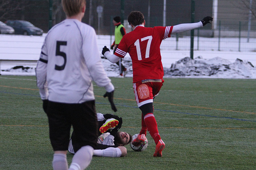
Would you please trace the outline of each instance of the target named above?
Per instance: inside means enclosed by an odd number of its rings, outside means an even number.
[[[172,28],[173,26],[153,28],[137,26],[123,36],[115,55],[124,58],[127,52],[130,54],[133,82],[163,78],[160,44],[163,39],[171,36]]]

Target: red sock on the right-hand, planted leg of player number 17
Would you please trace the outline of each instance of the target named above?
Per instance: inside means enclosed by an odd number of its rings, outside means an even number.
[[[145,121],[145,124],[148,128],[148,132],[150,133],[150,135],[154,139],[155,143],[157,144],[158,141],[161,139],[161,137],[158,133],[157,123],[156,123],[156,119],[155,119],[154,114],[147,113],[144,116],[144,121]]]

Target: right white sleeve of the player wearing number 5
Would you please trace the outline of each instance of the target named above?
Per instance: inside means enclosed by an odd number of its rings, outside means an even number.
[[[82,49],[83,55],[86,56],[84,59],[92,80],[98,86],[104,87],[107,92],[113,91],[114,86],[103,68],[101,58],[98,53],[96,33],[93,28],[91,28],[86,36],[83,37]]]

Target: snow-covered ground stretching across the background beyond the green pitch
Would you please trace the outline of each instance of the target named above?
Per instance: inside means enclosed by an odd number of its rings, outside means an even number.
[[[102,47],[110,43],[110,36],[98,35],[99,53]],[[243,48],[242,52],[232,52],[234,44],[225,49],[229,51],[218,51],[214,45],[200,46],[201,51],[194,51],[194,59],[189,58],[189,50],[174,50],[175,42],[173,38],[166,39],[161,45],[161,55],[164,67],[164,77],[193,77],[193,78],[252,78],[256,79],[256,53],[255,40],[252,39],[250,48]],[[179,39],[179,42],[187,39]],[[1,35],[0,39],[0,59],[32,59],[37,60],[44,36],[9,36]],[[113,39],[112,39],[113,40]],[[189,40],[189,39],[188,39]],[[22,43],[21,43],[22,42]],[[182,44],[189,44],[184,41]],[[169,47],[166,46],[169,45]],[[170,44],[174,45],[173,47]],[[205,40],[204,44],[212,44]],[[28,48],[29,49],[26,49]],[[248,47],[248,44],[247,44]],[[168,50],[169,49],[169,50]],[[195,47],[196,49],[196,47]],[[6,51],[5,51],[6,50]],[[32,52],[33,51],[33,52]],[[170,57],[171,56],[171,57]],[[108,76],[119,75],[118,66],[110,63],[107,59],[102,59],[104,69]],[[129,54],[123,59],[123,65],[128,69],[126,76],[132,76],[132,63]],[[17,66],[17,67],[15,67]],[[6,67],[1,65],[1,75],[35,75],[35,64],[13,65]]]

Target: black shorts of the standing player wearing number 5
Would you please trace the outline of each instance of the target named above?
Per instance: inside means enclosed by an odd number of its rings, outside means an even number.
[[[48,103],[47,116],[49,120],[49,135],[53,150],[68,150],[70,129],[73,126],[77,134],[75,140],[79,150],[90,145],[96,148],[98,138],[98,121],[95,101],[81,104]]]

